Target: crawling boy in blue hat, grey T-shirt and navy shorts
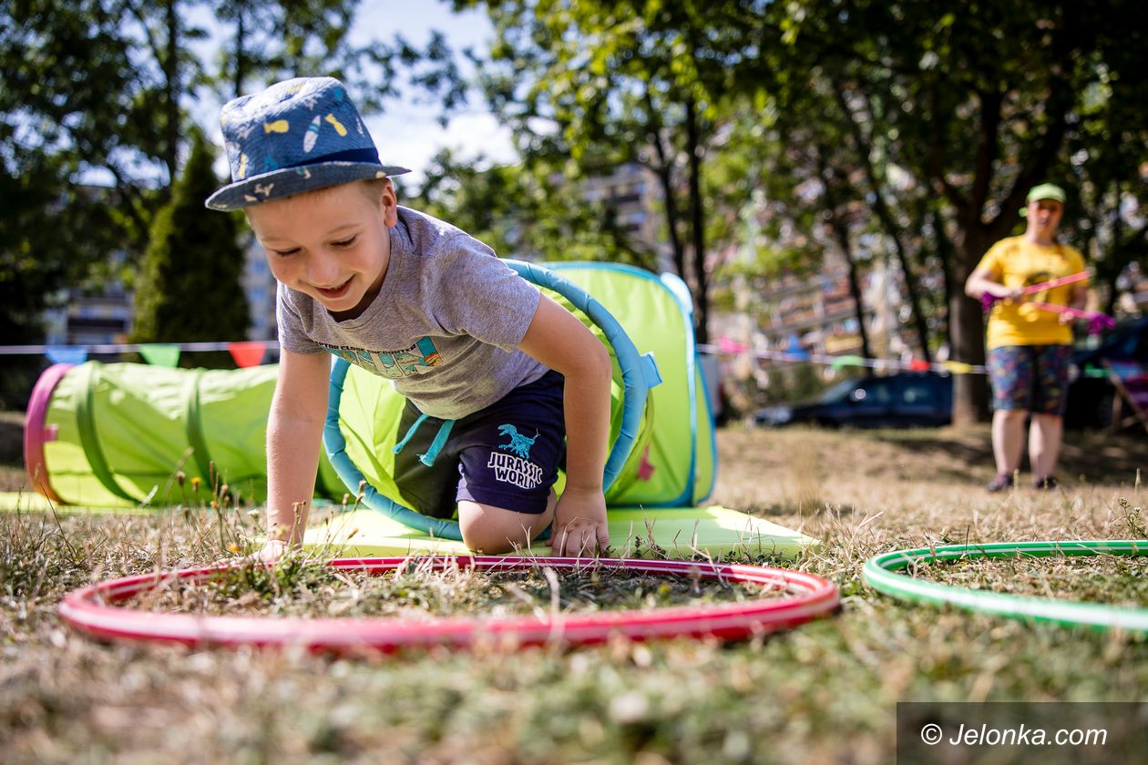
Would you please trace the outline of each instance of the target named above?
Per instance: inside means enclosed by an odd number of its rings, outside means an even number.
[[[611,364],[602,343],[490,248],[398,206],[390,177],[409,171],[380,163],[338,80],[278,83],[228,102],[219,122],[233,182],[207,205],[247,213],[279,282],[259,559],[297,547],[307,525],[327,409],[323,351],[391,378],[406,397],[395,478],[422,513],[449,516],[457,505],[472,551],[525,547],[551,521],[556,555],[605,549]],[[419,437],[430,439],[425,451]],[[491,467],[507,459],[523,468],[513,481]]]

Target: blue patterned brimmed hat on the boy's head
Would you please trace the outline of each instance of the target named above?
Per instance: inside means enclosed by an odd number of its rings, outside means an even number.
[[[219,125],[233,182],[208,197],[212,210],[410,172],[379,161],[347,88],[332,77],[289,79],[228,101]]]

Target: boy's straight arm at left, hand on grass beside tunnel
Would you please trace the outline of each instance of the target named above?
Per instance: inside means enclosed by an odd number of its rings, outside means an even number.
[[[274,561],[303,542],[327,416],[331,356],[282,350],[267,419],[267,542]]]

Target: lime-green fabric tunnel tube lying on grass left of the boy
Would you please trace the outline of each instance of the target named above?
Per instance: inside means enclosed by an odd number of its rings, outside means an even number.
[[[277,373],[274,365],[223,370],[54,365],[28,406],[29,478],[65,505],[174,505],[191,499],[196,477],[203,492],[226,483],[240,499],[261,502]],[[331,463],[321,462],[316,492],[341,497],[342,483]]]

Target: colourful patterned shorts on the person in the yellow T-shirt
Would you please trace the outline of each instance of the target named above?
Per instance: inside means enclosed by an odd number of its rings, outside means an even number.
[[[1064,414],[1071,345],[1006,345],[988,350],[993,408]]]

